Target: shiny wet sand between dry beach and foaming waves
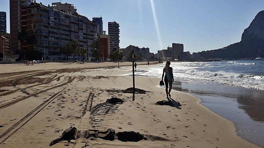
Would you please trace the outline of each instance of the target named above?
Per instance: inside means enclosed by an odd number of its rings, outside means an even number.
[[[235,123],[237,134],[264,147],[264,91],[179,80],[173,85],[201,99],[201,104]]]

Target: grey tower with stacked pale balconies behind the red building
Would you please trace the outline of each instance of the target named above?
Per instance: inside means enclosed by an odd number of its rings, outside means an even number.
[[[117,22],[108,22],[108,34],[110,36],[110,51],[119,48],[119,24]]]

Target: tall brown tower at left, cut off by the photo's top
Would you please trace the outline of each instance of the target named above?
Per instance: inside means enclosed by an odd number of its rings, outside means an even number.
[[[19,54],[20,41],[17,39],[21,31],[21,9],[31,4],[32,0],[9,0],[10,7],[10,49],[13,54]]]

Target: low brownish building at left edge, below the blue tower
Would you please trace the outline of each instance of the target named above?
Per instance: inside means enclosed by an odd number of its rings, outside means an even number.
[[[10,34],[0,33],[0,53],[5,55],[5,60],[7,56],[10,55]]]

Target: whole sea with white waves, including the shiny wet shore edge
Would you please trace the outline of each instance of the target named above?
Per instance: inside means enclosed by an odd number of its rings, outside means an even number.
[[[136,75],[161,78],[164,66]],[[199,97],[202,105],[233,121],[238,136],[264,147],[264,60],[171,62],[170,67],[174,90]]]

